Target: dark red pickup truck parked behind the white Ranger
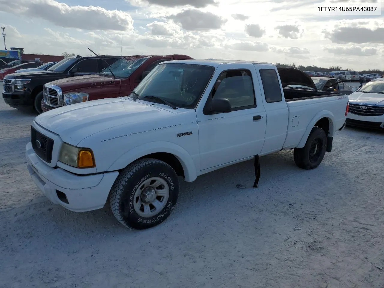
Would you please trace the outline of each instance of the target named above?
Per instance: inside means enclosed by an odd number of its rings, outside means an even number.
[[[64,78],[43,87],[43,112],[101,98],[127,96],[159,63],[194,59],[187,55],[135,55],[121,58],[99,74]],[[112,72],[111,72],[112,71]]]

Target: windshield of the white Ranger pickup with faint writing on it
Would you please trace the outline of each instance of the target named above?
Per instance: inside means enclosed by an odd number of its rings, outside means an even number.
[[[134,89],[137,98],[158,102],[156,96],[180,108],[194,109],[215,68],[205,65],[169,63],[157,65]]]

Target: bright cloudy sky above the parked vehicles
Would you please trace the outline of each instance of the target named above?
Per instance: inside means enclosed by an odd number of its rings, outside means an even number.
[[[377,1],[0,0],[0,24],[7,48],[25,53],[87,55],[89,47],[101,55],[383,70],[384,13],[326,16],[315,8]]]

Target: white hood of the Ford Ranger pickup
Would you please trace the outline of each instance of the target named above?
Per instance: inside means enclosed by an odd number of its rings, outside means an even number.
[[[167,124],[164,123],[169,121],[160,121],[160,119],[166,120],[176,113],[152,104],[132,101],[126,97],[93,100],[52,109],[36,116],[34,121],[58,134],[64,142],[78,145],[88,136],[120,125],[128,124],[129,129],[114,129],[123,134],[109,133],[105,138],[144,132],[149,129],[143,124],[144,122],[151,123],[149,130],[166,127]],[[176,111],[182,111],[182,109]]]

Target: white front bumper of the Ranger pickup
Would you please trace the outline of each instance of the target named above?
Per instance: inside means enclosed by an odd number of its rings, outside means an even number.
[[[74,212],[103,208],[119,172],[79,176],[46,165],[26,144],[27,169],[33,182],[54,204]]]

